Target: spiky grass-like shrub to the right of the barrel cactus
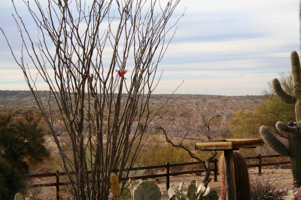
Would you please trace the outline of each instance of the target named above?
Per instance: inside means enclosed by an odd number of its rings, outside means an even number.
[[[264,179],[254,175],[250,180],[250,200],[282,200],[286,199],[287,190],[280,189],[281,181],[272,180],[270,176]]]

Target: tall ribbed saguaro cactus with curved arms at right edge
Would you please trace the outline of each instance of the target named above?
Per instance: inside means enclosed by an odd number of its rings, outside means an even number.
[[[262,126],[259,131],[265,142],[277,153],[290,156],[291,169],[293,172],[295,187],[301,186],[301,69],[299,56],[296,51],[290,55],[292,64],[292,73],[294,81],[294,96],[287,94],[281,88],[278,79],[273,79],[273,89],[277,97],[285,103],[296,103],[296,123],[289,123],[288,125],[278,121],[276,128],[280,131],[288,133],[289,149],[280,142],[268,129]]]

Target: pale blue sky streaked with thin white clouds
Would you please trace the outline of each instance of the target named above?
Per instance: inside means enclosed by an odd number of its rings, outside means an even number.
[[[34,28],[20,1],[17,9]],[[158,66],[163,75],[154,93],[170,94],[184,80],[175,93],[262,94],[269,80],[291,70],[290,52],[299,53],[298,5],[296,0],[182,0],[173,17],[186,8],[185,16]],[[0,1],[0,28],[20,49],[12,13],[11,1]],[[0,90],[28,90],[2,34],[0,43]]]

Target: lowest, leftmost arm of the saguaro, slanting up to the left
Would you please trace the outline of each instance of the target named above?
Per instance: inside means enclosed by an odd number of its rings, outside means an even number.
[[[261,126],[259,132],[264,141],[268,144],[268,146],[274,151],[276,151],[278,154],[281,154],[283,156],[290,155],[290,151],[287,149],[287,147],[273,135],[273,133],[268,129],[268,127]]]

